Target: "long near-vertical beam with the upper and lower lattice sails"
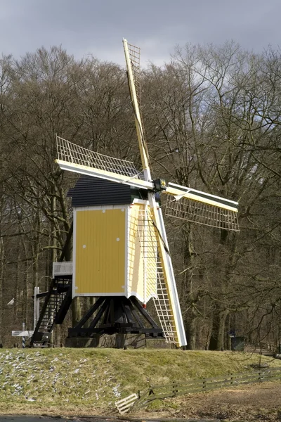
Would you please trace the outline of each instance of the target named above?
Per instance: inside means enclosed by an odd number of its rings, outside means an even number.
[[[143,165],[143,174],[145,176],[145,180],[150,181],[151,174],[148,162],[148,150],[141,118],[141,51],[138,47],[128,44],[126,39],[123,40],[123,44],[131,101],[135,115],[138,146],[140,148],[141,162]],[[176,290],[176,280],[174,278],[174,271],[166,240],[166,231],[162,219],[162,212],[156,203],[154,188],[148,191],[148,200],[150,203],[150,212],[155,229],[155,238],[157,241],[157,256],[159,257],[159,260],[157,261],[158,302],[155,302],[157,314],[159,315],[159,321],[166,340],[175,343],[178,347],[181,347],[186,345],[185,330],[181,316],[178,293]]]

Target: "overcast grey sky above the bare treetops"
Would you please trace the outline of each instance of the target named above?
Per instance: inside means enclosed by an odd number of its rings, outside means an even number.
[[[124,63],[122,38],[161,65],[174,46],[233,39],[263,51],[280,44],[281,0],[0,0],[1,52],[23,56],[62,45]]]

